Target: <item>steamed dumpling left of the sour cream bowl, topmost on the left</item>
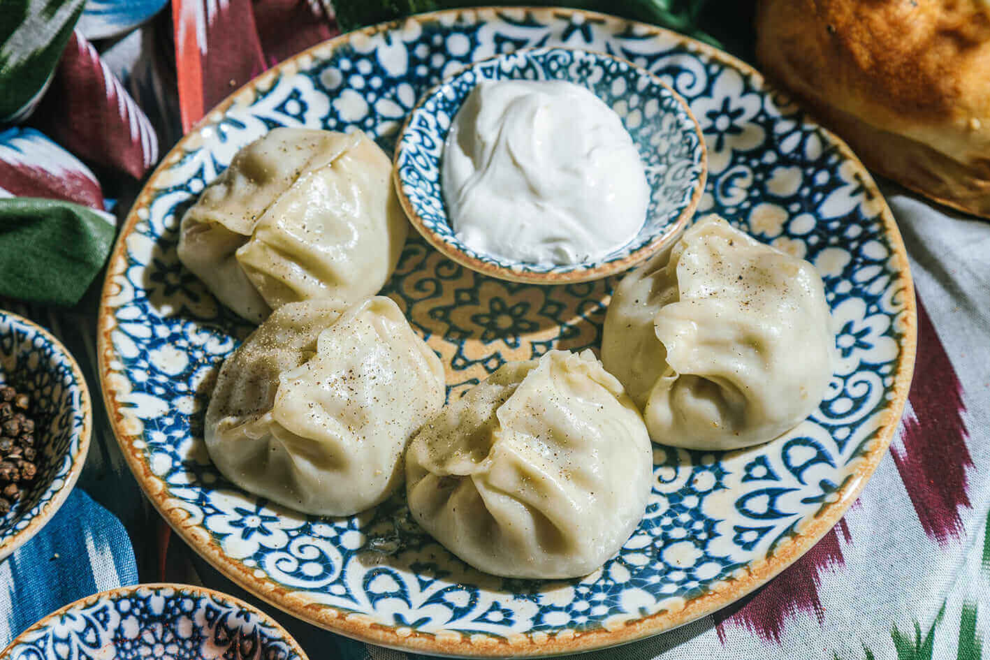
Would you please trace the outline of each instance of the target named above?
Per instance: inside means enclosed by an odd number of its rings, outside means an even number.
[[[366,298],[392,274],[409,231],[391,173],[359,131],[272,129],[186,212],[179,259],[249,321],[285,303]]]

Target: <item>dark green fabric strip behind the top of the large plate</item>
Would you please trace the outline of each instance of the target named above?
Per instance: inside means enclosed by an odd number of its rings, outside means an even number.
[[[676,30],[752,61],[754,0],[334,0],[344,32],[440,9],[526,5],[567,6],[614,14]]]

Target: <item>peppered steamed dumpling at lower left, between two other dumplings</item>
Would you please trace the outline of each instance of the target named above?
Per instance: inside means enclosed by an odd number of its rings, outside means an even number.
[[[206,446],[251,493],[349,516],[402,482],[406,443],[444,398],[440,358],[390,299],[289,303],[224,362]]]

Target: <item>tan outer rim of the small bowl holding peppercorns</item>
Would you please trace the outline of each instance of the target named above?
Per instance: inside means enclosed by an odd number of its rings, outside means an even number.
[[[76,448],[75,453],[71,455],[71,467],[69,467],[68,474],[64,477],[64,483],[61,488],[54,491],[51,499],[42,506],[42,511],[32,517],[28,526],[13,536],[0,539],[0,561],[9,557],[18,548],[31,540],[58,513],[61,506],[65,504],[65,500],[68,499],[69,493],[75,488],[75,482],[78,481],[79,475],[82,473],[82,466],[86,462],[86,455],[89,452],[89,440],[93,431],[93,405],[89,396],[89,386],[86,385],[86,379],[83,377],[82,370],[79,368],[79,364],[75,361],[72,353],[68,352],[64,344],[56,339],[49,330],[42,328],[34,321],[26,319],[14,312],[0,310],[0,318],[3,317],[38,332],[45,337],[45,340],[54,348],[55,352],[65,358],[72,371],[72,380],[75,387],[79,390],[79,410],[82,413],[82,430],[79,432],[79,446]],[[51,485],[49,484],[45,492],[49,493],[50,491]]]

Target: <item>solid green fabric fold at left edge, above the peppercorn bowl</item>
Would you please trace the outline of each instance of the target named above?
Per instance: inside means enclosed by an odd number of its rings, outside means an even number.
[[[0,200],[0,297],[74,305],[100,272],[115,229],[69,202]]]

